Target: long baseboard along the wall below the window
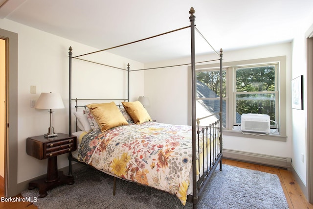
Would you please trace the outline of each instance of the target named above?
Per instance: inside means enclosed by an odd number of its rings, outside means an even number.
[[[291,158],[223,149],[223,158],[291,170]]]

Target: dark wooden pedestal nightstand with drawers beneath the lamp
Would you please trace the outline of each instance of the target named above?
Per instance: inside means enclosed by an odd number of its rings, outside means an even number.
[[[26,140],[26,152],[39,160],[48,159],[47,177],[29,183],[28,189],[39,188],[39,198],[47,195],[47,190],[62,184],[74,184],[72,176],[66,176],[62,171],[58,172],[58,155],[75,151],[77,138],[67,134],[58,133],[57,137],[45,138],[45,136],[29,137]]]

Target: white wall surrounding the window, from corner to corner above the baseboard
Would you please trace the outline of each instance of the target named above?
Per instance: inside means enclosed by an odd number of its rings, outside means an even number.
[[[281,114],[286,114],[287,121],[291,121],[291,43],[247,48],[237,51],[224,50],[223,62],[275,56],[287,57],[287,81],[281,81],[284,82],[287,89],[287,101],[282,101],[286,103],[287,111]],[[196,58],[196,62],[216,58],[216,55],[199,56]],[[145,67],[152,68],[181,63],[190,63],[190,58],[162,63],[150,63],[146,64]],[[147,110],[153,119],[164,123],[188,124],[187,79],[187,66],[147,70],[145,72],[145,96],[149,96],[150,99],[150,107],[147,107]],[[224,136],[224,148],[278,157],[291,157],[292,124],[287,123],[286,129],[288,136],[287,142]]]

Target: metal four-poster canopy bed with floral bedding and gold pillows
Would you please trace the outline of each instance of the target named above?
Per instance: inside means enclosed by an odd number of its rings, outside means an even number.
[[[69,134],[77,136],[78,139],[77,150],[68,157],[69,175],[72,174],[72,161],[88,164],[114,176],[113,195],[115,178],[120,178],[169,192],[176,195],[182,205],[188,201],[197,208],[203,188],[212,173],[218,165],[222,170],[223,102],[220,98],[218,113],[196,118],[196,102],[201,98],[197,98],[196,91],[195,30],[198,32],[199,30],[194,24],[194,13],[195,10],[191,8],[190,26],[178,29],[190,28],[191,31],[191,63],[188,64],[191,66],[192,79],[191,125],[172,125],[153,121],[139,101],[130,101],[129,75],[135,71],[130,70],[130,65],[127,67],[128,98],[105,98],[103,99],[105,101],[72,98],[72,60],[83,60],[80,57],[86,54],[72,56],[72,48],[69,48]],[[97,52],[99,51],[92,53]],[[221,49],[220,54],[217,53],[220,70],[222,70],[222,52]],[[220,74],[222,79],[222,73]],[[222,82],[220,88],[223,89]],[[90,102],[94,100],[101,102]],[[73,113],[72,101],[75,101]],[[86,104],[79,105],[78,101]],[[73,115],[76,118],[75,127],[78,127],[75,130],[72,129]],[[201,120],[208,117],[214,118],[215,121],[202,126]]]

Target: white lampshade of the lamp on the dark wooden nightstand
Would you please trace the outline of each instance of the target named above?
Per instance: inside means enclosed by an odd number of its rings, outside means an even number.
[[[59,93],[41,93],[36,105],[36,109],[63,109],[64,104]]]

